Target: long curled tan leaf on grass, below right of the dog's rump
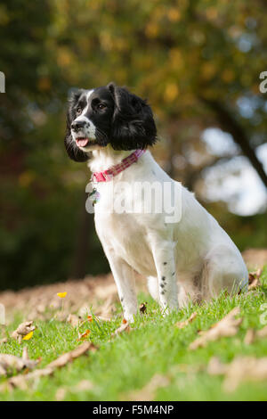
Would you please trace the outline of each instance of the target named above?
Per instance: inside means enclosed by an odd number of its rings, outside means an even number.
[[[209,341],[217,341],[223,337],[234,336],[238,333],[239,325],[242,323],[242,318],[235,318],[235,316],[239,315],[239,313],[239,307],[233,308],[228,315],[220,320],[220,322],[216,323],[209,330],[202,333],[196,341],[191,342],[189,348],[193,350],[203,348]]]

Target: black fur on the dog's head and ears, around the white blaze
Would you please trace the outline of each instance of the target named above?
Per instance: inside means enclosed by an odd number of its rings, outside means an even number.
[[[71,135],[71,123],[77,118],[77,106],[85,108],[86,90],[80,89],[71,94],[67,113],[65,147],[70,159],[86,161],[88,152],[81,150]],[[114,150],[145,149],[157,141],[157,128],[150,106],[125,87],[109,83],[98,87],[90,96],[86,117],[96,127],[96,142],[102,146],[111,144]],[[104,111],[96,111],[94,103],[104,101]]]

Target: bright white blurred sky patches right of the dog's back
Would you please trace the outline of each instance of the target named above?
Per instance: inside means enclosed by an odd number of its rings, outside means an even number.
[[[201,139],[208,151],[216,156],[239,152],[231,135],[217,127],[205,129]],[[256,154],[267,172],[267,143],[258,146]],[[266,188],[245,156],[235,156],[206,169],[204,177],[208,201],[226,201],[231,212],[241,216],[267,209]]]

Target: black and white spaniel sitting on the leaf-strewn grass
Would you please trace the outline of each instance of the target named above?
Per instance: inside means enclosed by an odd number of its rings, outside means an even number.
[[[120,167],[133,151],[155,144],[156,136],[150,106],[114,83],[78,90],[70,98],[66,150],[73,160],[89,160],[96,174]],[[118,170],[111,181],[130,186],[155,182],[178,185],[149,151]],[[128,321],[133,321],[137,312],[134,271],[148,277],[150,293],[165,313],[186,304],[189,298],[208,300],[224,289],[246,289],[247,267],[239,250],[193,193],[179,184],[181,217],[167,223],[164,211],[110,211],[115,198],[109,184],[95,184],[101,197],[94,206],[95,227]],[[116,197],[121,201],[127,198],[127,188],[118,191]],[[136,200],[146,197],[138,195]]]

